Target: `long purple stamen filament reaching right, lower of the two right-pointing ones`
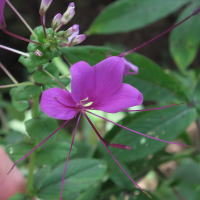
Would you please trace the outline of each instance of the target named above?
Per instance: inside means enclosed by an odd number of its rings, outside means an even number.
[[[124,129],[128,130],[128,131],[131,131],[131,132],[137,133],[137,134],[139,134],[139,135],[142,135],[142,136],[144,136],[144,137],[148,137],[148,138],[151,138],[151,139],[154,139],[154,140],[158,140],[158,141],[161,141],[161,142],[165,142],[165,143],[169,143],[169,144],[176,144],[176,145],[180,145],[180,146],[191,147],[191,146],[189,146],[189,145],[187,145],[187,144],[179,144],[179,143],[175,143],[175,142],[169,142],[169,141],[161,140],[161,139],[158,139],[158,138],[154,138],[154,137],[151,137],[151,136],[149,136],[149,135],[145,135],[145,134],[143,134],[143,133],[139,133],[139,132],[137,132],[137,131],[134,131],[134,130],[132,130],[132,129],[129,129],[129,128],[127,128],[127,127],[125,127],[125,126],[122,126],[122,125],[120,125],[120,124],[117,124],[117,123],[115,123],[115,122],[113,122],[113,121],[110,121],[109,119],[106,119],[106,118],[104,118],[104,117],[101,117],[101,116],[99,116],[99,115],[97,115],[97,114],[94,114],[94,113],[88,111],[88,110],[86,110],[86,112],[88,112],[88,113],[90,113],[90,114],[92,114],[92,115],[94,115],[94,116],[96,116],[96,117],[99,117],[99,118],[101,118],[101,119],[104,119],[104,120],[106,120],[106,121],[108,121],[108,122],[111,122],[111,123],[113,123],[113,124],[115,124],[115,125],[117,125],[117,126],[119,126],[119,127],[121,127],[121,128],[124,128]]]

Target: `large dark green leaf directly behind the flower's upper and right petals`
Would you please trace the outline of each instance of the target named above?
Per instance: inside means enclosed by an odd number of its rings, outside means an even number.
[[[119,55],[117,52],[108,47],[82,46],[64,48],[64,55],[67,60],[74,64],[78,61],[85,61],[91,66],[104,60],[109,51],[112,55]],[[124,81],[136,87],[144,96],[144,100],[170,100],[181,99],[188,101],[185,87],[176,82],[170,75],[165,73],[156,63],[148,58],[131,54],[127,59],[139,67],[139,74],[125,77]]]

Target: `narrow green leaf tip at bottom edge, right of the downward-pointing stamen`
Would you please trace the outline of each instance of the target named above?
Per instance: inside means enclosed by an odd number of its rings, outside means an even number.
[[[83,192],[76,200],[94,200],[96,199],[100,188],[100,184],[93,185],[91,188]]]

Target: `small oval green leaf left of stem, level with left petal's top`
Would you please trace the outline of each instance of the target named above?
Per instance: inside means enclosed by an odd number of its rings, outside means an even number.
[[[41,87],[38,85],[28,85],[26,87],[20,88],[16,95],[15,95],[15,100],[20,101],[20,100],[29,100],[33,99],[35,97],[39,97],[40,94],[42,93]]]

